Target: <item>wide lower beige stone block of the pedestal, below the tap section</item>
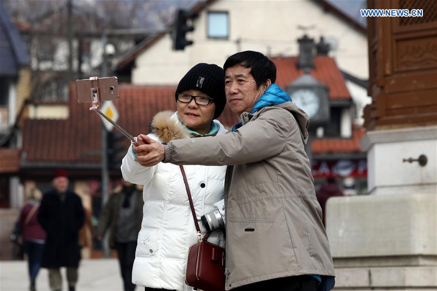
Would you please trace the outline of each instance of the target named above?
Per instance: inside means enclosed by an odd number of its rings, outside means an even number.
[[[437,195],[333,197],[336,290],[437,290]]]

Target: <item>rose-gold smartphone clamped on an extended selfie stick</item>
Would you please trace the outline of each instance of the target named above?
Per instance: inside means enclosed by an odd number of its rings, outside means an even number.
[[[77,103],[92,103],[89,110],[100,114],[105,120],[111,122],[132,143],[137,142],[137,137],[130,135],[124,128],[112,121],[102,111],[102,101],[119,100],[117,77],[90,77],[89,79],[76,80]]]

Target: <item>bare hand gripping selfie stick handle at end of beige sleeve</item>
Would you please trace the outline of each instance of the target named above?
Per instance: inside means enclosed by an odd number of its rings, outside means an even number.
[[[138,141],[133,145],[137,154],[137,162],[144,167],[152,167],[164,160],[164,147],[161,143],[145,135],[139,135]]]

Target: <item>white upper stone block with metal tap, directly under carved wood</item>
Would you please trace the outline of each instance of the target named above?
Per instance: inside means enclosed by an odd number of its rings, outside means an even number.
[[[360,140],[367,152],[370,194],[429,193],[437,195],[437,126],[370,131]],[[419,162],[404,158],[427,157]]]

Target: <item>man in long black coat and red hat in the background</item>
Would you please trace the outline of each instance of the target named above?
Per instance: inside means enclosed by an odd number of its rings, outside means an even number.
[[[79,229],[85,214],[81,198],[68,190],[67,171],[55,171],[54,190],[44,194],[38,212],[38,221],[47,233],[41,267],[49,269],[52,291],[60,291],[60,267],[67,267],[69,291],[75,291],[77,268],[80,260]]]

